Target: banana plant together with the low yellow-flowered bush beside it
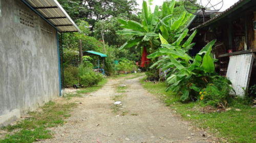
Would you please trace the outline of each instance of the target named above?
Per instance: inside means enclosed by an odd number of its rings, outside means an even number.
[[[212,40],[195,56],[188,55],[188,50],[195,43],[191,43],[196,31],[181,44],[187,35],[184,30],[177,41],[169,44],[160,34],[162,47],[155,53],[148,55],[148,58],[163,56],[161,60],[152,65],[162,70],[169,70],[166,82],[166,91],[172,91],[180,95],[182,101],[202,100],[211,105],[223,105],[227,102],[230,81],[218,76],[215,72],[215,59],[212,58],[211,49],[216,40]]]

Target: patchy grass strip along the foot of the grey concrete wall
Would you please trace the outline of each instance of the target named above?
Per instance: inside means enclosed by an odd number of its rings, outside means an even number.
[[[70,117],[71,108],[76,103],[55,103],[48,102],[41,107],[42,111],[29,112],[29,118],[11,126],[3,127],[2,130],[10,132],[1,143],[7,142],[34,142],[38,139],[53,137],[53,133],[47,130],[48,127],[56,127],[65,123]]]

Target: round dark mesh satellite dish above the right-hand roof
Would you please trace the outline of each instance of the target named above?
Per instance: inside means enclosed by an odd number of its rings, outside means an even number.
[[[204,17],[206,15],[211,15],[221,10],[223,0],[185,0],[184,7],[191,14],[203,15],[203,22],[205,22]]]

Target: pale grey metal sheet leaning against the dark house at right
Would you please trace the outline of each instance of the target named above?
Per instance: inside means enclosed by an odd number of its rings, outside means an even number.
[[[230,56],[227,68],[227,78],[232,83],[236,95],[243,97],[248,88],[254,54],[240,54]]]

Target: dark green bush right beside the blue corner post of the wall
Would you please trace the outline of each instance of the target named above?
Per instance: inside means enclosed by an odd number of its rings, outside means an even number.
[[[67,66],[64,69],[64,82],[65,82],[65,87],[70,88],[74,84],[78,83],[78,68],[74,66]]]

